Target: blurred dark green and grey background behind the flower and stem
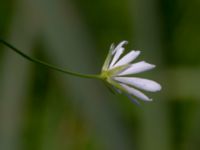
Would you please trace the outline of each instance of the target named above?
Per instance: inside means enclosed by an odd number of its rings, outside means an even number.
[[[128,40],[162,84],[138,107],[0,45],[0,150],[199,150],[199,0],[0,0],[0,38],[81,73]]]

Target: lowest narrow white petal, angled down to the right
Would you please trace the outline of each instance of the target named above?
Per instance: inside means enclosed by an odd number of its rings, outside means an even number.
[[[144,93],[140,92],[139,90],[136,90],[130,86],[127,86],[125,84],[120,84],[129,94],[138,97],[139,99],[143,101],[152,101],[149,97],[147,97]]]

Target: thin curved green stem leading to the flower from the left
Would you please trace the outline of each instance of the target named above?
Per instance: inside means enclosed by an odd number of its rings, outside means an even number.
[[[1,40],[0,39],[0,43],[2,43],[3,45],[9,47],[11,50],[13,50],[14,52],[16,52],[17,54],[21,55],[22,57],[24,57],[25,59],[31,61],[31,62],[34,62],[34,63],[37,63],[39,65],[42,65],[42,66],[45,66],[45,67],[48,67],[50,69],[53,69],[53,70],[56,70],[56,71],[59,71],[59,72],[62,72],[62,73],[66,73],[66,74],[69,74],[69,75],[73,75],[73,76],[77,76],[77,77],[81,77],[81,78],[95,78],[95,79],[100,79],[100,75],[92,75],[92,74],[81,74],[81,73],[77,73],[77,72],[73,72],[73,71],[68,71],[68,70],[64,70],[62,68],[58,68],[54,65],[51,65],[51,64],[48,64],[46,62],[43,62],[41,60],[38,60],[38,59],[35,59],[35,58],[32,58],[26,54],[24,54],[22,51],[20,51],[19,49],[15,48],[14,46],[12,46],[11,44],[9,44],[8,42],[4,41],[4,40]]]

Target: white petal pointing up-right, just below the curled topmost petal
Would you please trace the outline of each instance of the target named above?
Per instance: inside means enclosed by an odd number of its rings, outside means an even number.
[[[124,57],[122,57],[113,67],[122,66],[125,64],[128,64],[132,62],[134,59],[136,59],[140,54],[140,51],[131,51],[128,54],[126,54]]]

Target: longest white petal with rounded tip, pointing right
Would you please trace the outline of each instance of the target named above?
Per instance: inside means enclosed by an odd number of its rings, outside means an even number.
[[[128,84],[149,92],[156,92],[161,90],[160,84],[149,79],[142,79],[135,77],[115,77],[114,79],[121,83]]]

